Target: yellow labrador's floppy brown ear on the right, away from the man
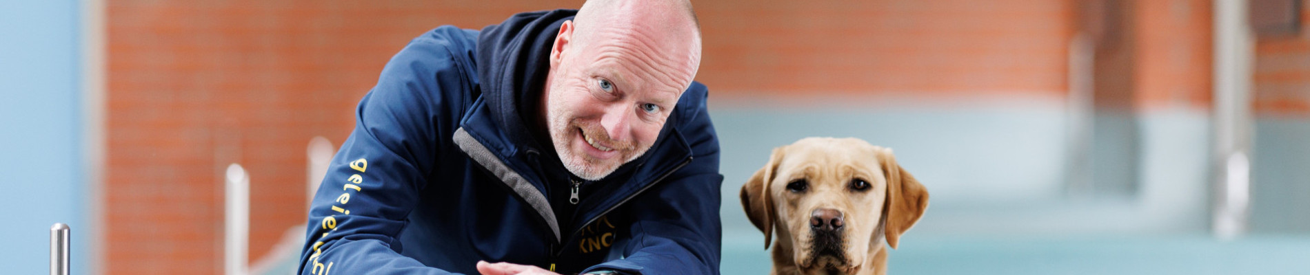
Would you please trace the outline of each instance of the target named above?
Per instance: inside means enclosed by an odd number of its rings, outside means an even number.
[[[875,151],[887,176],[887,199],[891,201],[887,205],[891,207],[887,214],[887,244],[895,249],[900,236],[914,227],[918,218],[924,216],[924,210],[927,210],[927,189],[896,163],[891,149]]]

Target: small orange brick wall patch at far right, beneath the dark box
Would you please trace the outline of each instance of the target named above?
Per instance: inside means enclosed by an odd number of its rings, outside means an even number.
[[[1255,44],[1258,116],[1310,116],[1310,1],[1301,3],[1300,30],[1260,35]]]

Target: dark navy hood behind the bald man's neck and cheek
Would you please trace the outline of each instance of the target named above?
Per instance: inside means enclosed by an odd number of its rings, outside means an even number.
[[[515,142],[549,150],[549,143],[536,141],[533,123],[541,113],[538,102],[550,70],[550,46],[559,25],[572,20],[574,14],[578,10],[519,13],[482,29],[478,35],[477,68],[482,95],[487,99],[493,120]]]

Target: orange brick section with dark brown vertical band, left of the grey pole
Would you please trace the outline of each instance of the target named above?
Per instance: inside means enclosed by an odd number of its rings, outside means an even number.
[[[1151,111],[1210,104],[1209,0],[1081,0],[1078,31],[1093,51],[1095,108]]]

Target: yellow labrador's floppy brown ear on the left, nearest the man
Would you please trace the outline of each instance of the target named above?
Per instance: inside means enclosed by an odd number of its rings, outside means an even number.
[[[773,195],[769,195],[769,182],[777,176],[782,149],[773,149],[769,163],[764,164],[760,171],[755,171],[751,180],[741,185],[741,209],[745,210],[745,216],[751,219],[751,223],[764,232],[764,249],[769,249],[769,244],[773,241],[776,214],[773,212]]]

